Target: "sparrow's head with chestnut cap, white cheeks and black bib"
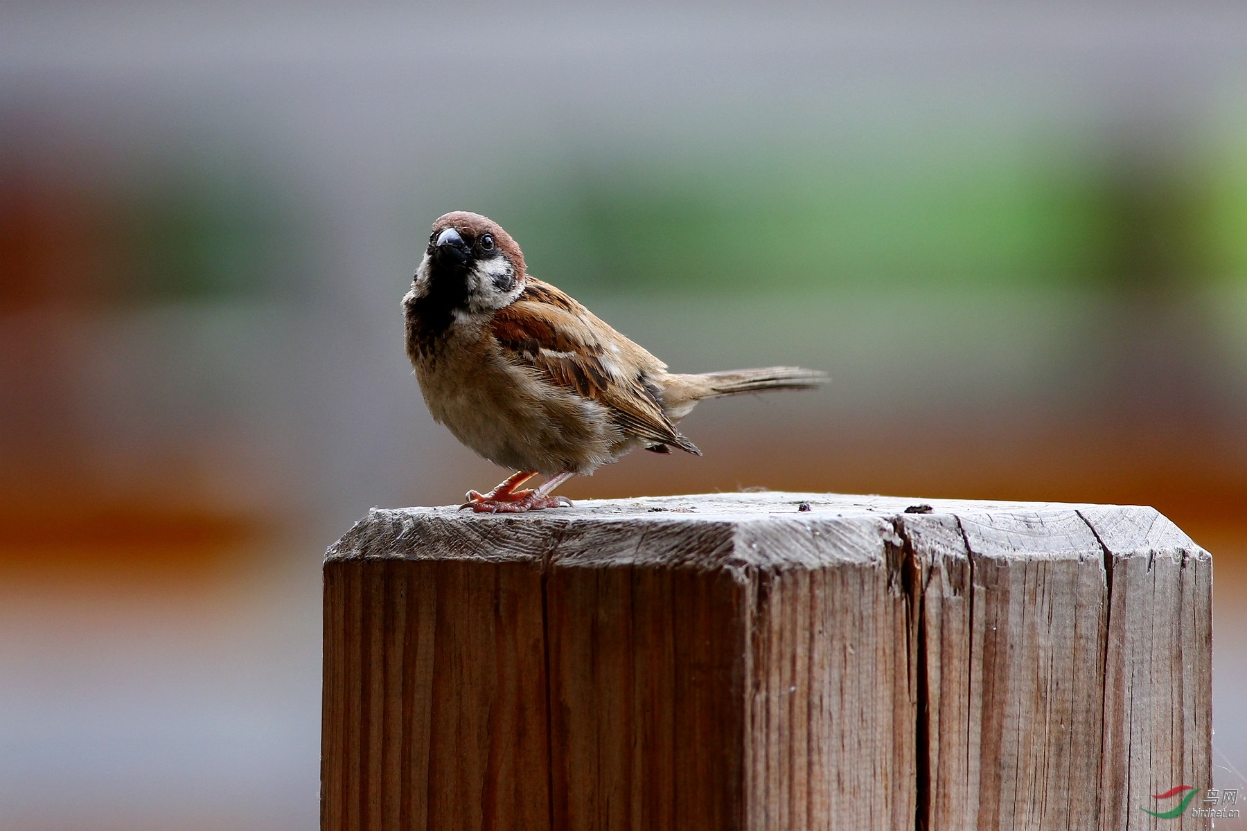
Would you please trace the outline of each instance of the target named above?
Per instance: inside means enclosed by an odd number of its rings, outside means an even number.
[[[524,253],[509,233],[479,213],[454,211],[433,223],[413,292],[480,313],[515,300],[524,278]]]

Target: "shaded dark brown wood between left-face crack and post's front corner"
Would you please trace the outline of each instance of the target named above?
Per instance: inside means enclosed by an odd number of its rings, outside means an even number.
[[[549,563],[554,826],[741,827],[747,586],[726,523],[570,527]],[[645,557],[637,562],[637,552]]]

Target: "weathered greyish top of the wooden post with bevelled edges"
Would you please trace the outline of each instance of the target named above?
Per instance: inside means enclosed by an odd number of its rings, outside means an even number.
[[[580,500],[519,515],[373,508],[329,547],[327,559],[734,568],[882,562],[889,548],[907,544],[959,557],[1207,556],[1148,507],[761,491]]]

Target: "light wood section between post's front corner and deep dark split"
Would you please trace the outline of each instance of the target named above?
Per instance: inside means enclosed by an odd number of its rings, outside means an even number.
[[[742,525],[753,562],[751,829],[893,829],[914,817],[909,597],[883,517]]]

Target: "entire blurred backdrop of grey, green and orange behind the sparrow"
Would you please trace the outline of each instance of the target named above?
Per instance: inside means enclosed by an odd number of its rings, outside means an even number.
[[[506,473],[403,354],[451,209],[675,370],[833,376],[569,496],[1167,513],[1247,794],[1242,4],[9,2],[0,829],[315,827],[324,547]]]

